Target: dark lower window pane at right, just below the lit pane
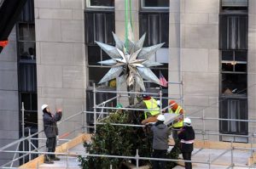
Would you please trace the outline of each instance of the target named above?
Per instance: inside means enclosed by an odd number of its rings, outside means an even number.
[[[222,74],[222,94],[247,95],[247,74]]]

